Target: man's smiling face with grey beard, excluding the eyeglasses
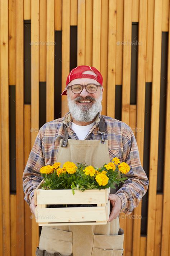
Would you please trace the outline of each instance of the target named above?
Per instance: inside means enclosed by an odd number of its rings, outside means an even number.
[[[93,71],[85,71],[83,73],[89,73],[90,75],[95,75]],[[72,80],[69,85],[87,85],[87,84],[96,84],[100,85],[98,81],[92,78],[76,78]],[[101,100],[103,95],[103,87],[98,87],[97,91],[93,94],[90,94],[86,91],[85,87],[79,94],[74,94],[71,91],[71,88],[67,89],[67,99],[69,105],[69,111],[72,114],[72,117],[75,118],[76,121],[84,121],[89,122],[96,117],[96,115],[101,112]]]

